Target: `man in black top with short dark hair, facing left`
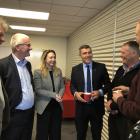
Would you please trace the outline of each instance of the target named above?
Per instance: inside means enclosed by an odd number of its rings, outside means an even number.
[[[136,41],[124,43],[120,52],[123,66],[116,71],[112,88],[113,95],[118,93],[118,90],[123,90],[123,97],[126,99],[132,80],[140,69],[139,44]],[[108,94],[106,108],[110,111],[108,118],[109,140],[127,140],[128,119],[120,112],[118,105],[113,102],[112,95]]]

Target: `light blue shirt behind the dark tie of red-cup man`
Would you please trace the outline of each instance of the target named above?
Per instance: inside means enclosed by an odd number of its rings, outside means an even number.
[[[85,80],[85,89],[84,89],[84,92],[87,92],[87,65],[89,65],[90,79],[92,81],[92,62],[89,63],[89,64],[83,63],[84,80]],[[91,82],[91,91],[93,91],[92,82]]]

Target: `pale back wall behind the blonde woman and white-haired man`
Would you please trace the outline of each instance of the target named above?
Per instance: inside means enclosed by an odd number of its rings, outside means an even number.
[[[56,51],[57,66],[61,68],[63,76],[65,76],[67,39],[62,37],[29,36],[31,38],[33,50],[28,59],[32,63],[33,70],[40,67],[40,56],[42,51],[45,49],[53,49]],[[9,45],[11,34],[7,34],[5,38],[6,42],[0,46],[0,58],[11,53]]]

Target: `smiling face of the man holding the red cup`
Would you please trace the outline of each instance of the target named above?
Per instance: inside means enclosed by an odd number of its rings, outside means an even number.
[[[83,63],[90,63],[92,61],[93,56],[91,48],[82,48],[80,50],[80,56],[82,58]]]

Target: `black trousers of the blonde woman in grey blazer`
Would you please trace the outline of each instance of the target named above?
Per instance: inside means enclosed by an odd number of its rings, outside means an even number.
[[[52,99],[43,114],[37,114],[36,140],[61,140],[61,122],[62,109]]]

